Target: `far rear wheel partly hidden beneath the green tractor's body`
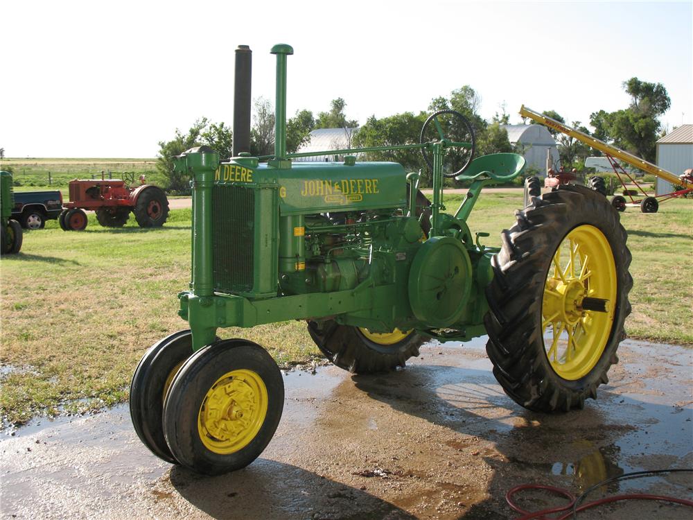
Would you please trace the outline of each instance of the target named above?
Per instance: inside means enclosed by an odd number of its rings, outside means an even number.
[[[397,332],[395,330],[392,334]],[[358,327],[340,325],[333,320],[322,323],[309,321],[308,333],[328,360],[353,374],[388,372],[404,367],[407,359],[419,356],[419,347],[424,342],[419,334],[412,332],[401,340],[390,343],[385,338],[393,336],[383,334],[380,336],[383,338],[381,340],[378,339],[379,335],[374,335],[367,329],[362,331]]]

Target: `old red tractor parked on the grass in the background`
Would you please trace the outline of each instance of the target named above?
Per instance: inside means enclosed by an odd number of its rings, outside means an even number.
[[[87,227],[85,209],[96,212],[96,220],[104,227],[123,227],[130,211],[140,227],[160,227],[168,218],[168,198],[166,193],[152,184],[132,187],[134,175],[130,178],[101,180],[71,180],[69,184],[70,201],[64,203],[65,209],[58,217],[64,231],[81,231]],[[127,181],[127,182],[126,182]]]

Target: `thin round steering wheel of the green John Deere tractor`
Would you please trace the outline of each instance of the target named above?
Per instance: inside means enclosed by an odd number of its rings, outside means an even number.
[[[457,177],[466,170],[474,158],[475,137],[471,123],[456,110],[439,110],[431,114],[421,128],[421,144],[432,141],[444,143],[465,143],[469,146],[450,146],[446,153],[448,164],[443,165],[444,177]],[[433,158],[430,150],[421,148],[423,160],[433,170]]]

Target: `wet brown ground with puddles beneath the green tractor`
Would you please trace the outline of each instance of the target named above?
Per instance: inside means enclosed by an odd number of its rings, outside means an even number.
[[[626,342],[598,401],[568,415],[516,406],[483,341],[431,345],[405,370],[288,372],[277,435],[261,459],[214,478],[172,467],[139,442],[125,406],[42,419],[0,435],[2,518],[502,519],[520,483],[578,493],[625,471],[693,466],[693,351]],[[604,492],[691,498],[691,474]],[[597,493],[593,498],[598,498]],[[591,497],[590,497],[591,498]],[[529,510],[561,503],[532,493]],[[630,502],[590,518],[690,518]]]

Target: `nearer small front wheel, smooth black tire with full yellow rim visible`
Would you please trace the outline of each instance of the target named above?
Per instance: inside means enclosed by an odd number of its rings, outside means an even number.
[[[217,475],[249,465],[277,430],[284,382],[267,351],[219,340],[184,363],[164,403],[164,435],[177,462]]]

